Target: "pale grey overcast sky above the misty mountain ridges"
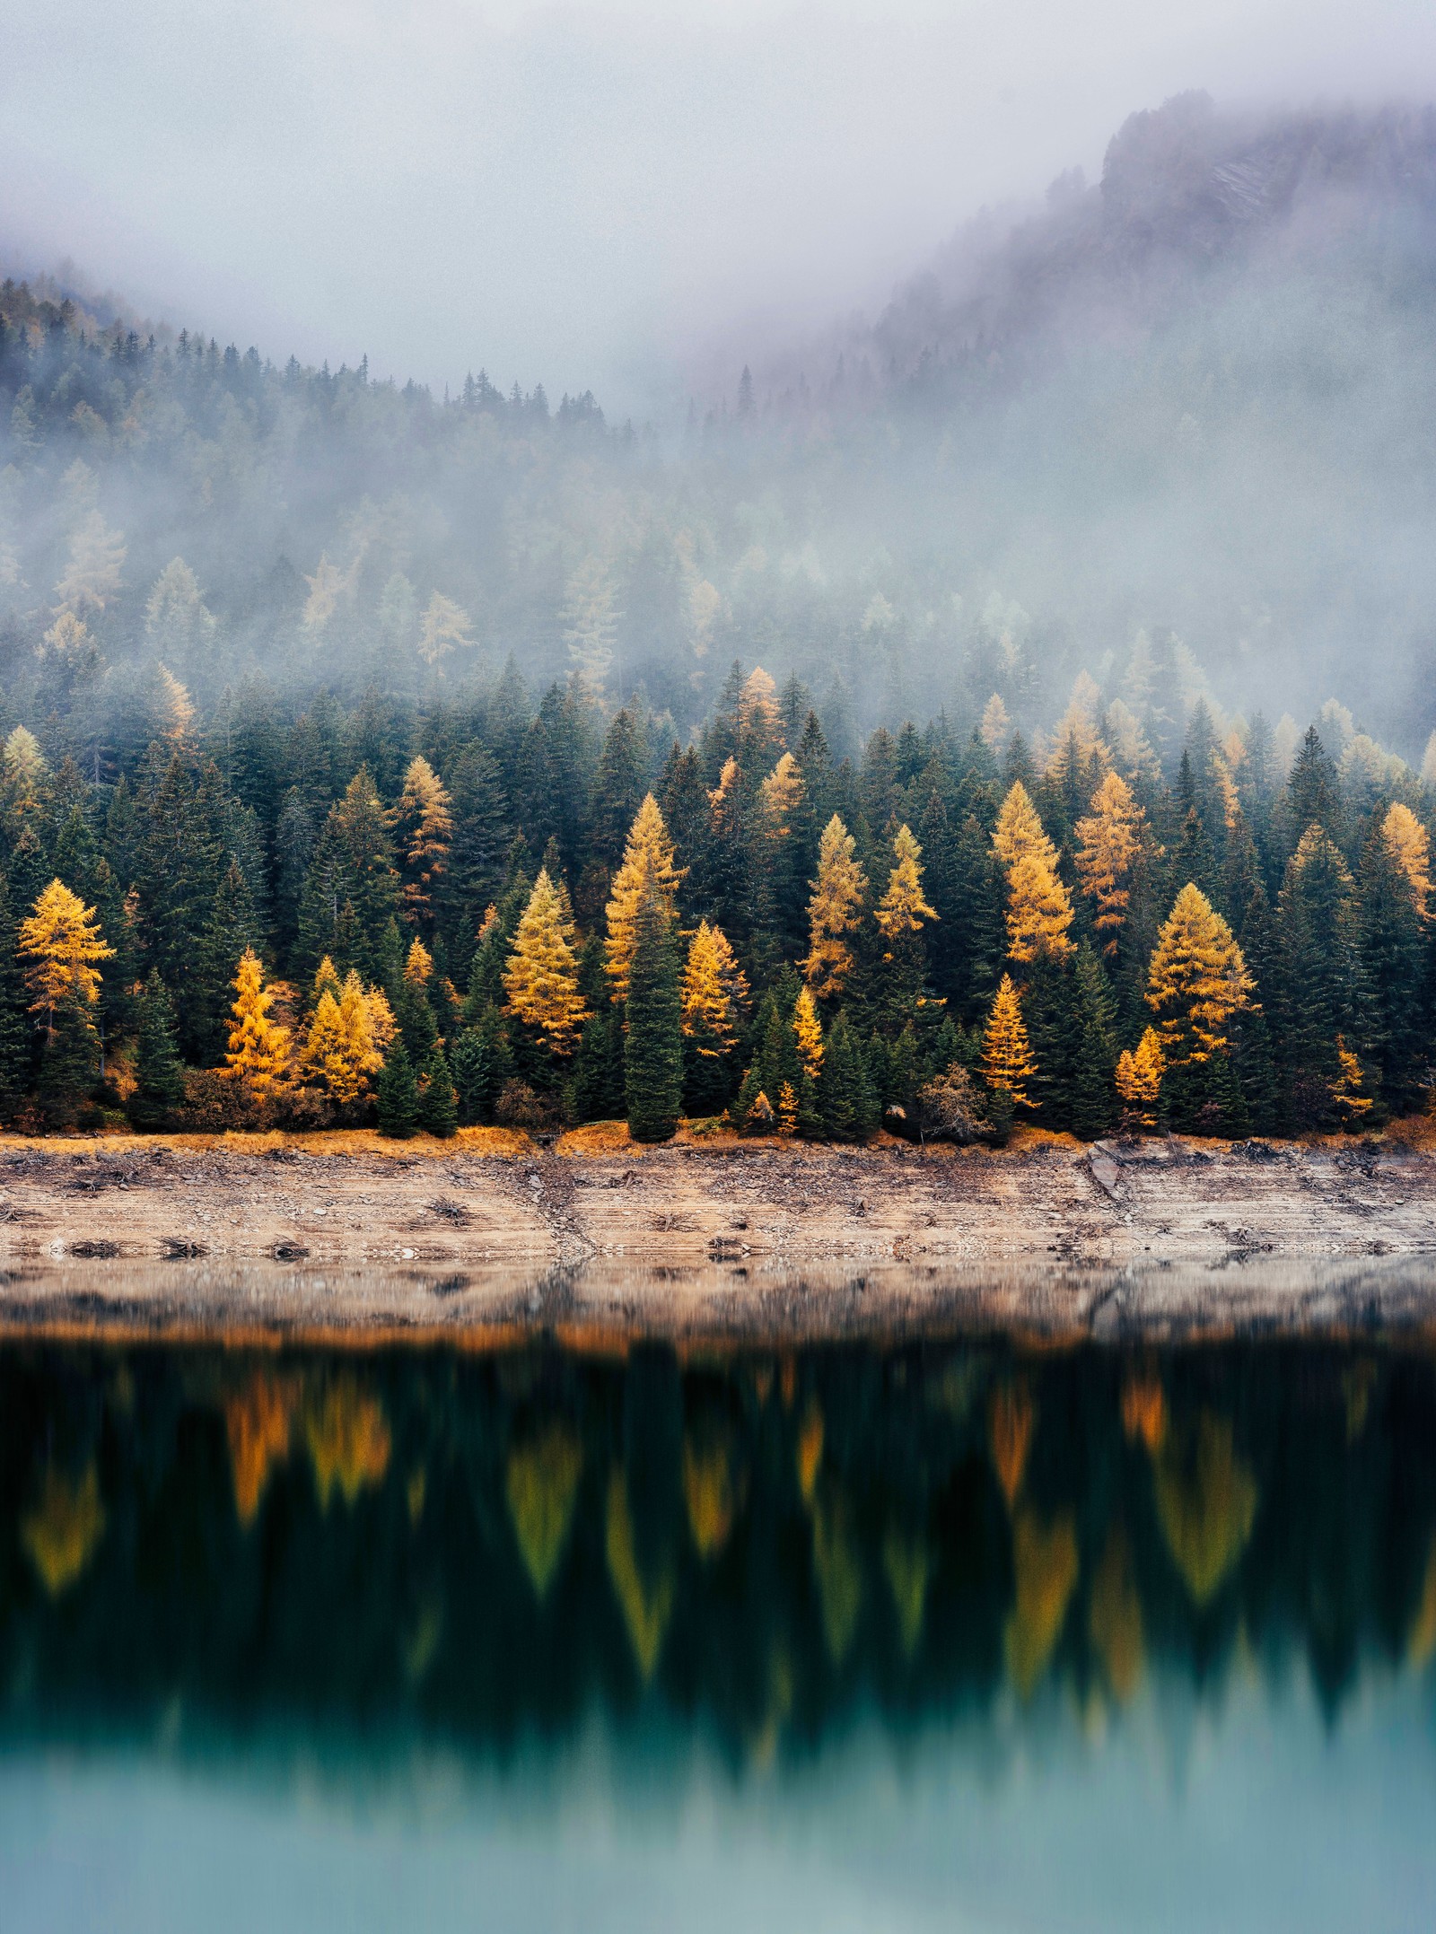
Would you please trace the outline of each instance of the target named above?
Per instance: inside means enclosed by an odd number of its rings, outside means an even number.
[[[0,253],[275,358],[643,410],[1186,87],[1436,97],[1436,6],[0,0]]]

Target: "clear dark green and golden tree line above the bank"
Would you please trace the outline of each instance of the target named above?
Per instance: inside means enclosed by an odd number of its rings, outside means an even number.
[[[1078,681],[1033,745],[993,698],[852,760],[739,665],[687,745],[513,663],[426,708],[170,679],[110,779],[62,718],[4,743],[6,1116],[1378,1126],[1432,1081],[1436,799],[1324,723],[1198,700],[1163,760]]]

